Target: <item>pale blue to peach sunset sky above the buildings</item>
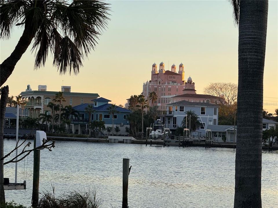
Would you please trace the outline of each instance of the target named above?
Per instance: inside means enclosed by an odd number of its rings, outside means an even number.
[[[269,1],[264,109],[278,108],[278,1]],[[34,70],[30,46],[5,85],[18,95],[30,84],[32,90],[47,85],[49,91],[71,86],[71,92],[98,93],[116,105],[142,92],[151,78],[151,66],[161,61],[165,70],[184,64],[198,94],[210,82],[238,79],[238,27],[228,1],[108,1],[110,21],[95,51],[83,61],[80,73],[59,75],[52,56],[45,67]],[[12,53],[22,28],[14,28],[9,40],[1,40],[0,61]]]

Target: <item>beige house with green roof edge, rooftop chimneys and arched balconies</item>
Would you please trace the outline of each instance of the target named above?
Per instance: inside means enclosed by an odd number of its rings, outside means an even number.
[[[82,92],[71,92],[70,86],[61,86],[61,92],[66,99],[66,103],[62,103],[65,105],[80,105],[83,103],[92,103],[93,99],[99,97],[97,93],[82,93]],[[41,113],[45,111],[48,114],[51,114],[51,109],[47,107],[48,103],[52,102],[55,98],[55,95],[58,91],[47,91],[46,85],[39,85],[38,90],[32,90],[30,85],[27,86],[25,92],[21,92],[20,95],[23,98],[27,98],[26,106],[28,116],[31,118],[38,118]]]

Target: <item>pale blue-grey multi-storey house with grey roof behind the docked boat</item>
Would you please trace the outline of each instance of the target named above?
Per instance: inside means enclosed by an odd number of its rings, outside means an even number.
[[[185,112],[190,110],[197,114],[199,117],[198,120],[201,123],[200,129],[192,132],[191,135],[204,136],[205,130],[208,129],[208,125],[218,124],[218,105],[211,103],[178,101],[175,103],[169,103],[166,106],[167,111],[162,112],[159,116],[165,123],[165,126],[171,130],[181,127],[182,120],[186,116]],[[189,128],[189,124],[187,128]]]

